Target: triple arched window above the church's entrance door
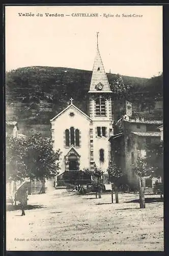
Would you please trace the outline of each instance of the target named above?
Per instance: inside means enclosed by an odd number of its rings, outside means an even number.
[[[74,129],[74,127],[70,127],[70,129],[65,130],[65,137],[66,137],[66,147],[80,146],[80,132],[78,129]]]

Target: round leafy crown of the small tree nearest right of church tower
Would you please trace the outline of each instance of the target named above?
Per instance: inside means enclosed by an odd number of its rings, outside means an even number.
[[[109,180],[115,184],[118,183],[118,180],[123,176],[122,169],[115,163],[110,163],[107,168]]]

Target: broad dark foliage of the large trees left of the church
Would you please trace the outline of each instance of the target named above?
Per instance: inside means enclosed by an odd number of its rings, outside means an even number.
[[[51,138],[40,133],[27,139],[7,138],[7,179],[49,178],[58,174],[61,152],[53,151]]]

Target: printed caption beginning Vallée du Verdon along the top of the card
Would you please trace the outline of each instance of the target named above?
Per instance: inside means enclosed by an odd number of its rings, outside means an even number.
[[[26,17],[66,17],[66,16],[71,16],[71,17],[105,17],[105,18],[109,18],[109,17],[122,17],[122,18],[142,18],[143,15],[142,14],[138,14],[138,13],[122,13],[122,14],[113,14],[113,13],[70,13],[70,14],[64,14],[64,13],[32,13],[32,12],[18,12],[18,16],[26,16]]]

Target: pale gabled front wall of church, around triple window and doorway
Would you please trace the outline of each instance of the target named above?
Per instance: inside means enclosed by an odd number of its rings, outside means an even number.
[[[74,116],[69,114],[73,112]],[[74,147],[76,152],[80,155],[79,169],[90,167],[90,119],[81,114],[73,106],[61,114],[58,118],[52,122],[52,139],[53,149],[58,150],[60,148],[62,155],[60,161],[60,174],[65,172],[65,155],[68,154],[71,147],[65,147],[65,130],[70,129],[71,126],[74,129],[80,131],[80,146]]]

